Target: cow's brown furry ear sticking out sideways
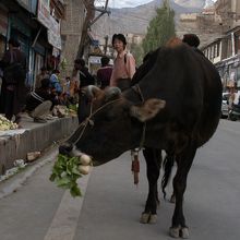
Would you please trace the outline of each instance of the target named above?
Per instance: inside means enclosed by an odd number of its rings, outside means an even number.
[[[154,118],[161,109],[165,108],[166,101],[157,98],[146,100],[142,106],[132,106],[130,115],[145,122]]]

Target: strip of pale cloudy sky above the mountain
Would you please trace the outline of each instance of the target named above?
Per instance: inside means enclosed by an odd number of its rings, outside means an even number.
[[[148,3],[153,0],[109,0],[108,1],[108,7],[109,8],[134,8],[136,5],[142,5],[145,3]],[[216,0],[213,0],[214,2]],[[99,3],[100,5],[105,5],[106,0],[95,0],[95,2]]]

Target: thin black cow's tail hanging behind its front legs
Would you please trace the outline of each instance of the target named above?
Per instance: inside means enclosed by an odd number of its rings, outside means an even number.
[[[163,169],[164,169],[164,177],[161,179],[161,191],[164,193],[164,199],[166,197],[166,191],[165,188],[167,187],[170,176],[171,176],[171,169],[175,165],[175,155],[166,155],[164,163],[163,163]]]

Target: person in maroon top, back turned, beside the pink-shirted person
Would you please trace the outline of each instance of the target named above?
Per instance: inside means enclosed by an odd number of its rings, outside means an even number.
[[[101,89],[110,84],[112,67],[109,65],[109,61],[110,59],[107,56],[104,56],[100,59],[101,67],[97,70],[97,80],[100,83]]]

